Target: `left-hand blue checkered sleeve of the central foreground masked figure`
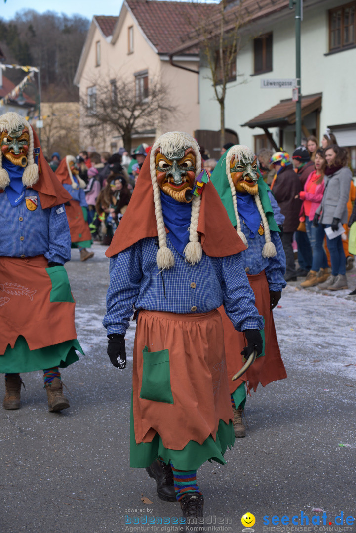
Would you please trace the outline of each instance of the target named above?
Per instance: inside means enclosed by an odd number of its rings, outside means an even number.
[[[130,325],[133,306],[140,293],[142,252],[139,243],[110,258],[110,285],[103,326],[110,333],[122,333]]]

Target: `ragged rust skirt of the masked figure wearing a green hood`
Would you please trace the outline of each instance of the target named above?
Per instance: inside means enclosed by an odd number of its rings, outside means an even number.
[[[258,357],[239,379],[231,381],[232,376],[244,364],[241,351],[247,346],[247,341],[244,333],[234,329],[231,320],[226,316],[224,308],[221,306],[218,311],[221,314],[224,326],[226,365],[228,367],[231,394],[243,382],[246,382],[248,390],[253,389],[256,392],[258,383],[266,386],[272,381],[287,377],[277,341],[273,313],[270,309],[270,293],[264,270],[255,276],[248,276],[248,281],[255,294],[257,311],[264,318],[264,356]]]

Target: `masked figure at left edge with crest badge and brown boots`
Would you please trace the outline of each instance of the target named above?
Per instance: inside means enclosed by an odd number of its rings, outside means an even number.
[[[83,353],[63,264],[70,196],[48,166],[36,133],[14,112],[0,116],[0,372],[5,409],[20,407],[20,372],[44,369],[50,411],[69,407],[59,367]],[[39,327],[38,327],[39,326]]]

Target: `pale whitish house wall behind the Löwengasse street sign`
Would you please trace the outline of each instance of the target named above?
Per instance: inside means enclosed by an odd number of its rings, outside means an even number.
[[[354,87],[356,82],[356,49],[325,55],[328,52],[328,10],[344,2],[323,2],[305,9],[302,22],[302,94],[322,93],[320,132],[328,125],[356,122]],[[261,89],[263,78],[295,78],[295,11],[285,13],[288,17],[271,25],[265,23],[263,33],[273,31],[273,70],[254,75],[252,39],[240,52],[237,71],[241,74],[237,83],[230,83],[225,100],[225,127],[237,131],[240,142],[254,147],[254,135],[263,134],[260,128],[253,130],[241,127],[260,115],[280,100],[290,99],[290,89]],[[254,35],[253,37],[256,37]],[[200,71],[200,127],[217,130],[220,127],[219,104],[213,99],[213,87],[207,79],[209,70]],[[271,128],[278,143],[278,130]],[[293,149],[293,134],[285,136],[285,149]]]

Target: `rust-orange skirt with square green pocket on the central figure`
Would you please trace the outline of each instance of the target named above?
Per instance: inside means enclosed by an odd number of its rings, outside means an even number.
[[[136,445],[157,434],[166,449],[203,445],[209,436],[215,441],[220,423],[229,426],[232,416],[219,312],[140,311],[133,354]]]

